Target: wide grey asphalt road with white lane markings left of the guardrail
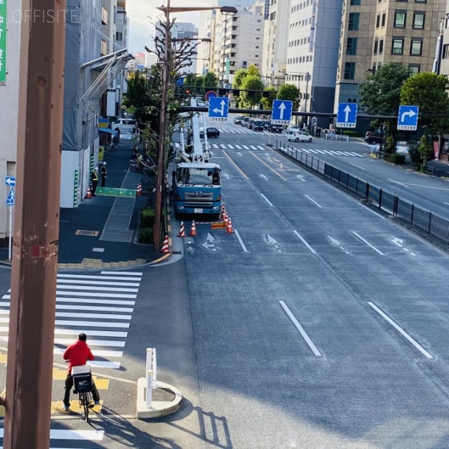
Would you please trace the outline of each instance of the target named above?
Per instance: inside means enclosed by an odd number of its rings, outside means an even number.
[[[96,368],[114,377],[100,391],[102,415],[86,426],[55,413],[53,431],[67,433],[52,448],[449,447],[448,255],[283,158],[268,139],[210,140],[234,234],[198,222],[182,260],[130,270],[139,278],[127,299],[134,304],[116,304],[130,310],[95,318],[129,323],[126,336],[98,337],[124,342],[123,354],[100,357],[119,368]],[[353,142],[313,145],[336,144],[355,154],[323,158],[374,172],[385,165]],[[0,286],[6,293],[6,271]],[[147,347],[158,351],[159,380],[185,396],[182,410],[156,422],[130,418]]]

